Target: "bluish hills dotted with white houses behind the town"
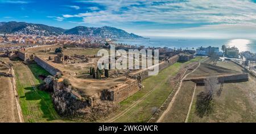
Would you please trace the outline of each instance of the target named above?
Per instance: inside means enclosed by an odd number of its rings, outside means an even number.
[[[59,27],[51,27],[44,24],[26,22],[0,22],[0,33],[28,34],[28,35],[83,35],[104,37],[112,39],[143,39],[144,37],[128,33],[114,27],[84,27],[78,26],[65,30]]]

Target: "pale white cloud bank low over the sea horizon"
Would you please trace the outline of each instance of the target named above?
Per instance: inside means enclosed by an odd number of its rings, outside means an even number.
[[[175,36],[197,38],[249,38],[256,36],[256,25],[252,24],[213,24],[192,28],[127,30],[142,36]]]

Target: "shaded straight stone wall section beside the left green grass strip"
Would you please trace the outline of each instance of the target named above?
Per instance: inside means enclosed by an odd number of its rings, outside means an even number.
[[[35,56],[35,62],[41,66],[42,68],[46,69],[47,72],[49,72],[52,76],[55,76],[57,72],[60,72],[59,69],[53,67],[52,65],[48,64],[46,61],[44,61],[42,58]]]

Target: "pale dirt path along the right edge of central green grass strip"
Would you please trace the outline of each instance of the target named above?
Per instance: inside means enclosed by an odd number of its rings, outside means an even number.
[[[196,69],[199,68],[199,66],[200,66],[200,62],[199,62],[199,65],[197,65]],[[159,117],[159,119],[158,119],[158,121],[157,121],[158,123],[159,123],[159,122],[162,122],[162,120],[164,119],[164,116],[166,116],[167,112],[171,110],[172,104],[174,103],[174,101],[175,101],[175,99],[176,99],[176,97],[177,97],[177,94],[178,94],[179,91],[180,91],[180,87],[181,87],[181,85],[182,85],[183,80],[184,80],[189,74],[195,72],[196,69],[194,69],[192,72],[186,74],[186,75],[181,79],[181,81],[180,81],[180,86],[178,87],[178,89],[177,89],[177,91],[176,91],[174,97],[172,98],[172,101],[171,101],[170,104],[168,105],[166,111],[164,111],[163,114]]]

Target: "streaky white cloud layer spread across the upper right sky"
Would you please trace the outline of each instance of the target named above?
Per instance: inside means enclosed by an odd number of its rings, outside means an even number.
[[[86,22],[155,22],[171,23],[256,23],[256,4],[239,0],[191,0],[191,1],[153,1],[153,0],[91,0],[79,1],[105,6],[105,10],[90,12],[91,15],[64,15],[81,17]],[[89,13],[85,13],[89,14]],[[87,19],[86,19],[87,18]]]

